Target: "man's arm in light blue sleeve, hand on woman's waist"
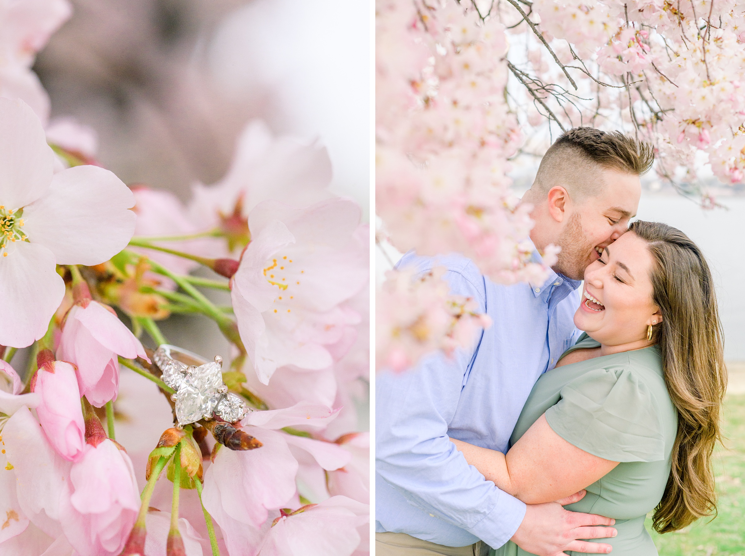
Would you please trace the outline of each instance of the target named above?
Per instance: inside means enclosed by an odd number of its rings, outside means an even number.
[[[462,275],[448,272],[446,278],[451,293],[478,299],[477,288]],[[613,525],[614,520],[565,511],[557,502],[531,505],[526,512],[523,502],[487,482],[455,450],[448,423],[472,355],[465,350],[456,351],[452,359],[434,354],[402,374],[378,374],[380,476],[412,505],[466,529],[489,546],[502,546],[511,538],[539,556],[560,555],[562,550],[610,552],[609,545],[575,539],[615,536],[615,529],[594,526]]]

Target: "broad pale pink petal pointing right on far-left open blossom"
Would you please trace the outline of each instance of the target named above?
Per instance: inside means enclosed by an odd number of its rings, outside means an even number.
[[[58,264],[92,266],[127,246],[135,231],[132,191],[112,172],[76,166],[54,174],[48,194],[28,205],[25,231]]]

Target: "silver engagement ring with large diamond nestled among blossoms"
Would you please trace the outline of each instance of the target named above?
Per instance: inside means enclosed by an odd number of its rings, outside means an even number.
[[[211,419],[213,414],[235,423],[249,411],[243,398],[228,392],[223,383],[223,358],[219,355],[207,362],[191,351],[164,344],[155,351],[153,360],[162,371],[163,382],[176,391],[171,400],[176,402],[180,428],[202,418]]]

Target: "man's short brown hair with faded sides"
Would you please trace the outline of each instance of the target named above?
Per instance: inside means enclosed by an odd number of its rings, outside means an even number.
[[[533,191],[545,195],[561,185],[577,200],[597,195],[603,187],[598,170],[641,176],[654,162],[653,147],[619,131],[574,127],[548,148],[533,182]]]

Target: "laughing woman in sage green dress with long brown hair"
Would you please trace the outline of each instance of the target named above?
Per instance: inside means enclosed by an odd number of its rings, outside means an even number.
[[[567,509],[615,518],[601,540],[614,556],[656,555],[647,512],[665,533],[716,510],[726,371],[711,272],[681,231],[635,222],[586,269],[574,324],[586,334],[533,387],[506,456],[453,442],[527,504],[586,488]]]

